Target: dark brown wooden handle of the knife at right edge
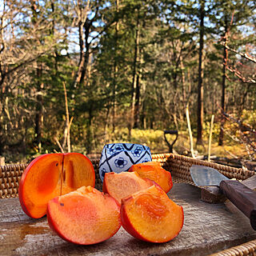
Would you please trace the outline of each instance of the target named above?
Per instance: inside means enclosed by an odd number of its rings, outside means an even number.
[[[220,189],[226,198],[250,218],[250,225],[256,230],[256,191],[235,180],[223,180]]]

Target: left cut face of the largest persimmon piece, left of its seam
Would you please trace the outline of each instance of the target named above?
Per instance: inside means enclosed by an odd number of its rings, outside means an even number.
[[[39,158],[26,173],[19,197],[30,217],[45,215],[47,202],[61,193],[62,158],[61,154]]]

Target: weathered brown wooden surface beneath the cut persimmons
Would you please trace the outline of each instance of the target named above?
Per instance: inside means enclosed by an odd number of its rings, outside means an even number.
[[[174,184],[170,198],[183,206],[185,221],[178,237],[163,244],[139,241],[122,228],[113,238],[93,246],[65,242],[46,218],[31,219],[18,198],[0,199],[0,255],[208,255],[256,239],[249,219],[232,205],[200,200],[200,189]]]

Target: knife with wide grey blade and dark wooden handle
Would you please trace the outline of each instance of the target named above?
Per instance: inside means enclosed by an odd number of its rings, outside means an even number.
[[[218,186],[226,198],[250,218],[250,225],[256,230],[256,191],[207,166],[191,166],[190,175],[196,186]]]

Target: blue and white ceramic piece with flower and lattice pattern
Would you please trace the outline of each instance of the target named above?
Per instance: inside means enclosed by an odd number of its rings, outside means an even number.
[[[99,161],[99,176],[103,182],[106,173],[121,173],[128,171],[130,166],[136,163],[151,161],[152,157],[148,146],[133,143],[106,144]]]

